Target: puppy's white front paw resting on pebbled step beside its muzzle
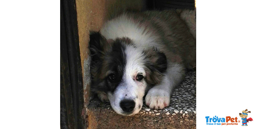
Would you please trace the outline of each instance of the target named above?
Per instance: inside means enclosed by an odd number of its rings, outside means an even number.
[[[162,89],[150,89],[145,98],[146,105],[151,109],[163,109],[170,105],[170,93]]]

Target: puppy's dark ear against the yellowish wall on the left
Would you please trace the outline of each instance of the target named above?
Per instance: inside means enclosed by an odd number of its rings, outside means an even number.
[[[100,58],[110,49],[111,40],[107,40],[100,32],[90,32],[89,49],[92,62],[100,61]]]

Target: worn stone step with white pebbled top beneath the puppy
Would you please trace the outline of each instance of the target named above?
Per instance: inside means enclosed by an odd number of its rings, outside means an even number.
[[[171,97],[171,104],[163,110],[144,106],[132,117],[117,114],[109,104],[94,98],[87,110],[88,128],[196,128],[196,71],[188,72],[185,80]]]

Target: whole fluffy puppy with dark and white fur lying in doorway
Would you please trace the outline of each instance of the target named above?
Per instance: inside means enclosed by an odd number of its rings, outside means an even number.
[[[175,11],[124,13],[90,33],[91,87],[114,111],[163,109],[186,68],[196,66],[196,40]]]

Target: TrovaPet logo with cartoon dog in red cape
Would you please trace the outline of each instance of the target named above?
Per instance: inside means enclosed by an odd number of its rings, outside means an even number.
[[[238,123],[242,122],[242,126],[247,126],[247,122],[253,121],[252,118],[247,118],[248,113],[251,113],[251,111],[244,110],[242,113],[239,113],[239,116],[242,118],[242,120],[239,120],[237,117],[210,117],[206,116],[206,125],[238,125]]]

